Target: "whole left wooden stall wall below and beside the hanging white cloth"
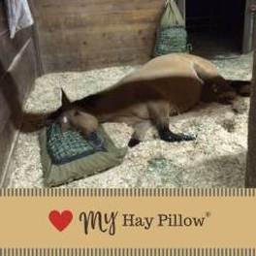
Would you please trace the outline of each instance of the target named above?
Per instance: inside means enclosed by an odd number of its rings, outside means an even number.
[[[0,187],[20,125],[22,105],[37,77],[37,60],[32,29],[11,40],[7,19],[0,2]]]

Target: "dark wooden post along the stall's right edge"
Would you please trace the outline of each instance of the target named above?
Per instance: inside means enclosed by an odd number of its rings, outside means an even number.
[[[256,22],[254,19],[253,47],[256,48]],[[245,187],[256,187],[256,50],[253,58],[252,88],[248,123],[248,153]]]

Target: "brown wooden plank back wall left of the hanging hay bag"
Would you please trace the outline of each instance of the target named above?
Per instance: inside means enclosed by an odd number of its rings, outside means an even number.
[[[83,71],[150,58],[164,1],[34,0],[44,71]]]

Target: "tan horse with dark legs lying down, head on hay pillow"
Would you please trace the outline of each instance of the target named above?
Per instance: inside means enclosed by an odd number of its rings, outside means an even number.
[[[173,53],[154,58],[112,87],[75,102],[62,91],[62,106],[48,115],[48,121],[86,136],[99,123],[124,122],[134,129],[129,146],[140,144],[151,125],[161,140],[191,141],[193,136],[170,130],[170,116],[187,112],[200,101],[231,104],[236,94],[208,60]]]

